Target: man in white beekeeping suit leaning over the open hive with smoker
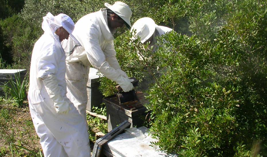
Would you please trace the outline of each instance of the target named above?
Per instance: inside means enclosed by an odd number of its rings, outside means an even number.
[[[119,84],[123,91],[134,89],[131,83],[134,80],[129,79],[121,70],[113,43],[113,34],[117,28],[123,27],[124,24],[127,28],[131,28],[131,9],[120,1],[113,5],[105,3],[105,6],[107,8],[87,14],[75,24],[72,34],[82,47],[73,45],[71,39],[62,43],[67,56],[69,55],[66,58],[67,97],[85,120],[88,99],[86,84],[90,65]]]

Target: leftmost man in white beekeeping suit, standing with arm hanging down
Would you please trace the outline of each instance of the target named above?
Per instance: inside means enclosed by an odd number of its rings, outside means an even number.
[[[74,23],[65,14],[43,17],[44,34],[34,44],[28,100],[45,157],[90,157],[85,121],[66,97],[65,53],[61,41],[72,38]]]

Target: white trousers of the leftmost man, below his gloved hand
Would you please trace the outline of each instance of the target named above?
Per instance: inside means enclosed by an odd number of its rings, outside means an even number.
[[[90,144],[84,118],[73,104],[68,114],[58,114],[46,92],[37,95],[30,113],[45,157],[90,157]],[[33,98],[34,99],[34,98]],[[36,101],[33,101],[36,102]]]

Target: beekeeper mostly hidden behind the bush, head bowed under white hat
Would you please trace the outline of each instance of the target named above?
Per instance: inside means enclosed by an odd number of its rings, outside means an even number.
[[[134,33],[134,31],[136,32]],[[147,49],[150,49],[152,52],[155,52],[155,50],[159,46],[157,44],[156,37],[170,31],[172,31],[171,28],[157,25],[150,17],[143,17],[138,19],[130,30],[130,32],[134,34],[132,39],[137,39],[139,36],[141,43],[148,43]]]

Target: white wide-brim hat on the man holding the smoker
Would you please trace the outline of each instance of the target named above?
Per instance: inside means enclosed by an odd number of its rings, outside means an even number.
[[[117,1],[113,5],[105,3],[105,6],[111,11],[113,11],[115,14],[117,14],[119,17],[121,17],[125,21],[125,25],[127,26],[127,28],[131,29],[130,18],[132,15],[132,11],[127,4]]]

